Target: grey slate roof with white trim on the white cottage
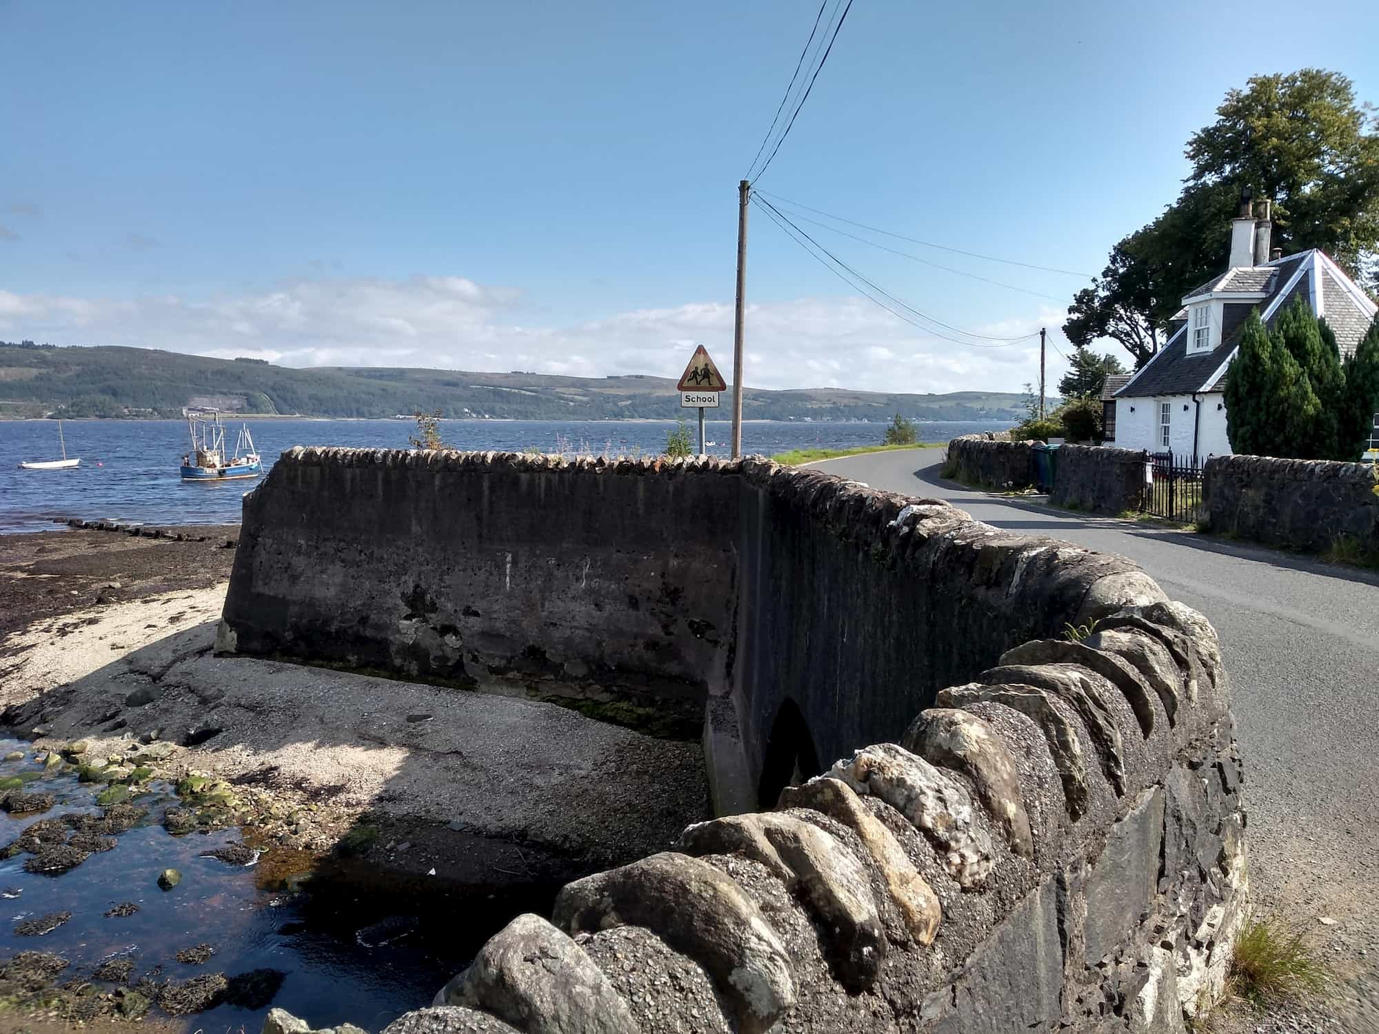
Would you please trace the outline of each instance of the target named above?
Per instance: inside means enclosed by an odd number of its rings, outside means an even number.
[[[1294,276],[1299,270],[1302,274],[1294,281]],[[1185,295],[1185,298],[1191,298],[1196,294],[1202,294],[1211,285],[1218,285],[1214,288],[1216,291],[1245,291],[1251,288],[1242,287],[1242,284],[1260,283],[1266,284],[1263,290],[1267,292],[1262,302],[1227,302],[1222,309],[1220,345],[1197,356],[1187,354],[1186,324],[1179,324],[1175,320],[1169,324],[1168,343],[1116,394],[1131,398],[1220,392],[1225,386],[1226,364],[1240,345],[1241,327],[1251,310],[1259,309],[1266,325],[1273,327],[1278,316],[1292,305],[1292,299],[1298,295],[1306,298],[1311,305],[1314,276],[1321,284],[1322,314],[1336,332],[1336,343],[1343,353],[1354,352],[1373,318],[1372,306],[1362,307],[1356,296],[1342,285],[1340,278],[1346,274],[1327,255],[1320,251],[1302,251],[1288,258],[1276,259],[1269,266],[1229,270],[1202,288]],[[1220,287],[1220,284],[1226,284],[1226,287]],[[1287,294],[1282,294],[1284,291]],[[1358,294],[1358,288],[1356,291]]]

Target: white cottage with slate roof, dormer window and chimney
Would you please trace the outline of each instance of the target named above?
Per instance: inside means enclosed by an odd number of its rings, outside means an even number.
[[[1244,201],[1231,219],[1230,269],[1183,298],[1168,342],[1116,392],[1114,443],[1121,448],[1193,456],[1230,454],[1226,437],[1226,368],[1251,310],[1266,325],[1302,296],[1324,316],[1343,356],[1369,330],[1375,303],[1321,251],[1270,256],[1269,201]],[[1107,414],[1109,415],[1109,414]],[[1379,448],[1379,414],[1371,448]]]

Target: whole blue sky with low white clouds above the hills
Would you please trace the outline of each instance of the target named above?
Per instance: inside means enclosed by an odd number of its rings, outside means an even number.
[[[587,376],[705,345],[728,369],[738,181],[818,10],[0,0],[0,339]],[[1047,327],[1052,392],[1071,295],[1174,200],[1187,136],[1305,66],[1379,102],[1369,4],[855,0],[754,186],[928,317]],[[1037,338],[903,323],[757,207],[747,244],[752,386],[1037,381]]]

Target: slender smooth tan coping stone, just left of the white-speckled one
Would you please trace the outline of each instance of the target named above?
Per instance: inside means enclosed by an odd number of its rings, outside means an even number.
[[[812,808],[858,834],[872,855],[891,898],[905,917],[910,936],[918,944],[932,944],[942,921],[939,898],[928,885],[905,848],[880,819],[869,812],[841,779],[819,776],[781,793],[782,808]]]

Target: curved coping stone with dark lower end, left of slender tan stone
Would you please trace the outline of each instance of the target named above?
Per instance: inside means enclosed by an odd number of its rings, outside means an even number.
[[[692,855],[739,853],[764,864],[819,921],[840,983],[855,993],[876,983],[885,962],[885,933],[872,881],[827,833],[790,815],[732,815],[691,826],[680,847]]]

